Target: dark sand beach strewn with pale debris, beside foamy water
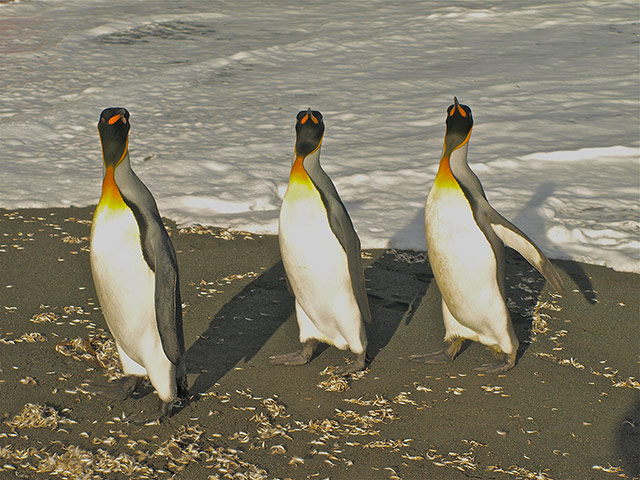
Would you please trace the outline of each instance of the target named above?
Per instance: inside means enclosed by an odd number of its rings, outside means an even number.
[[[276,237],[168,222],[194,400],[137,426],[126,420],[156,408],[152,389],[121,402],[86,393],[105,371],[69,343],[91,339],[115,371],[89,269],[91,212],[0,210],[1,479],[640,476],[639,275],[554,261],[558,298],[511,252],[518,363],[480,375],[491,355],[478,344],[449,365],[408,360],[443,336],[426,255],[367,251],[373,361],[344,380],[321,374],[350,357],[335,348],[302,367],[268,363],[298,348]]]

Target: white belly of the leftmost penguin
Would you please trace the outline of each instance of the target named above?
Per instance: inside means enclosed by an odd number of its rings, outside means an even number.
[[[127,209],[96,211],[91,230],[91,270],[98,300],[127,374],[146,374],[154,358],[166,357],[155,316],[155,275],[144,261],[139,230]],[[137,371],[127,371],[137,370]]]

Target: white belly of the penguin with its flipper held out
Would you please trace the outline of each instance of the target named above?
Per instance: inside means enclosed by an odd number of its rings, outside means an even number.
[[[462,191],[432,189],[425,226],[433,274],[451,314],[480,337],[493,335],[507,320],[496,257]]]

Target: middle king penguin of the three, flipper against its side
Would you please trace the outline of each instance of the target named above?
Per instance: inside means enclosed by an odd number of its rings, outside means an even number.
[[[278,237],[286,278],[295,296],[302,349],[270,358],[272,364],[304,365],[319,342],[349,349],[367,363],[363,321],[371,322],[360,239],[338,192],[320,166],[322,114],[310,108],[296,117],[289,185],[280,209]]]

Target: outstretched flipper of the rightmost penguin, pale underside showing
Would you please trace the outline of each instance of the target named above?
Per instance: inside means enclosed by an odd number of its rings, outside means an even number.
[[[557,293],[564,294],[564,285],[558,271],[533,241],[495,210],[490,209],[488,217],[492,230],[500,240],[526,258],[547,279]]]

